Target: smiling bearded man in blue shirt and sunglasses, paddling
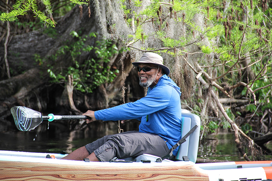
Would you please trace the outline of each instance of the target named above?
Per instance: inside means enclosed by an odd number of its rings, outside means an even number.
[[[140,100],[112,108],[91,111],[83,115],[96,120],[141,121],[139,131],[107,135],[73,151],[62,159],[108,162],[117,157],[123,159],[141,154],[162,157],[181,138],[180,88],[167,75],[170,69],[163,65],[163,58],[152,52],[144,53],[138,62],[132,62],[138,70],[140,85],[148,87],[147,95]],[[123,123],[124,121],[122,121]],[[173,151],[176,155],[178,148]]]

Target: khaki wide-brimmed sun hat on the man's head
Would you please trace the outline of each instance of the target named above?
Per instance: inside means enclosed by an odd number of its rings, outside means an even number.
[[[141,59],[137,62],[132,62],[132,65],[137,66],[139,63],[152,63],[155,65],[159,65],[160,68],[163,69],[164,74],[169,75],[170,74],[170,69],[163,64],[164,59],[158,55],[157,53],[152,53],[152,52],[147,52],[144,53]]]

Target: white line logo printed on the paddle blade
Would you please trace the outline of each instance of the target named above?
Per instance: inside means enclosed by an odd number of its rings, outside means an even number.
[[[18,126],[22,131],[28,130],[32,121],[31,114],[27,109],[24,109],[24,107],[18,107],[16,112]]]

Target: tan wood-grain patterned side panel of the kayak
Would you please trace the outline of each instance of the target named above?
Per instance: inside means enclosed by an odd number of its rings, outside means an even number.
[[[109,163],[110,164],[110,163]],[[209,181],[193,165],[164,167],[98,167],[0,161],[0,181]]]

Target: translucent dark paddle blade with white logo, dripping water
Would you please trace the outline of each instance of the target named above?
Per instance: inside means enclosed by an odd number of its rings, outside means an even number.
[[[16,127],[21,131],[29,131],[36,128],[42,121],[41,113],[24,106],[11,108]]]

